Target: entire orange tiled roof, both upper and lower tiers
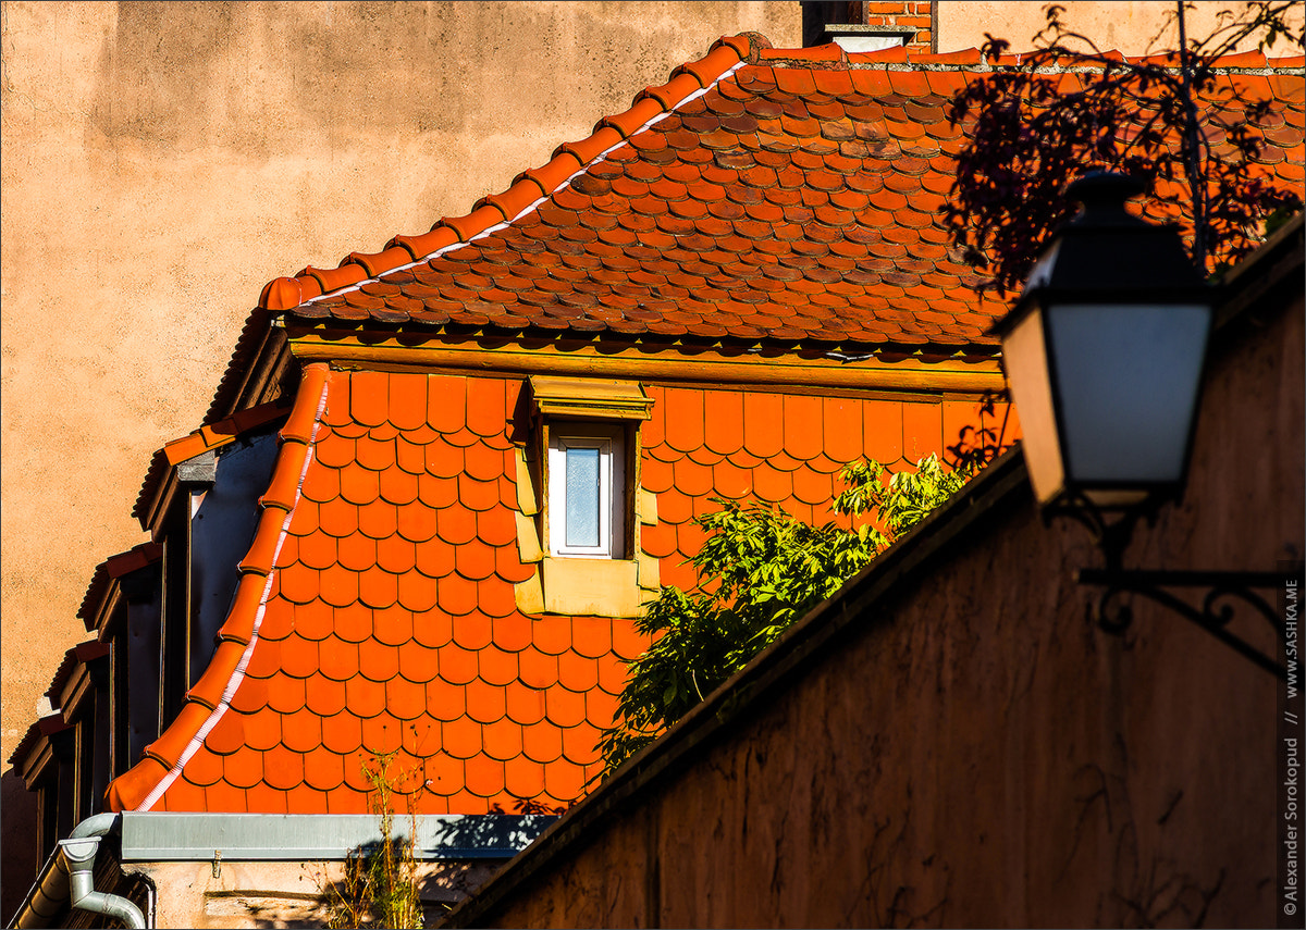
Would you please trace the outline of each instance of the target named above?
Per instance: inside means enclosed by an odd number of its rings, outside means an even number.
[[[991,357],[999,308],[981,310],[935,218],[961,138],[944,106],[985,68],[974,54],[908,61],[722,39],[469,216],[278,278],[261,304],[287,329],[333,337],[401,328],[414,341],[572,334],[854,347],[888,363],[922,346]],[[1276,76],[1238,77],[1269,88]],[[1299,88],[1280,99],[1263,167],[1299,183]],[[692,517],[713,498],[821,522],[842,464],[916,461],[978,419],[976,404],[951,400],[656,376],[643,387],[653,418],[639,427],[641,485],[657,522],[640,528],[640,546],[662,584],[680,586],[703,542]],[[516,536],[522,389],[492,371],[303,366],[214,654],[178,717],[110,785],[110,809],[366,812],[360,764],[390,751],[417,776],[419,812],[584,793],[624,662],[645,641],[629,619],[517,609],[513,585],[535,571]]]

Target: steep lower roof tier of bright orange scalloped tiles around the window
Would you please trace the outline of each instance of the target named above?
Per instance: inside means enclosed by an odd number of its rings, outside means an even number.
[[[628,619],[526,617],[513,584],[522,381],[307,366],[219,644],[114,810],[366,812],[367,752],[422,812],[551,807],[599,771]],[[940,452],[976,405],[646,385],[641,546],[691,586],[713,496],[828,519],[840,465]]]

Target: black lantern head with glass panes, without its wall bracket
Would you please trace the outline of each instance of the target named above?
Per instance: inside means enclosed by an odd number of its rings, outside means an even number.
[[[1173,226],[1124,209],[1105,172],[1067,189],[1083,212],[996,325],[1041,504],[1138,504],[1183,485],[1211,332],[1211,287]]]

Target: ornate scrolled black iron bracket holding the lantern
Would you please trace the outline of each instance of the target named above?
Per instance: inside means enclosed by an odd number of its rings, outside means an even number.
[[[1045,522],[1055,516],[1067,516],[1085,525],[1102,551],[1104,568],[1081,568],[1075,575],[1079,584],[1105,589],[1089,603],[1089,620],[1101,630],[1121,636],[1134,622],[1134,611],[1126,597],[1130,594],[1145,597],[1198,624],[1256,666],[1280,679],[1286,679],[1288,671],[1277,658],[1267,656],[1234,633],[1229,624],[1235,615],[1235,605],[1241,603],[1260,614],[1275,631],[1277,641],[1284,643],[1286,639],[1284,619],[1256,592],[1282,589],[1286,581],[1301,577],[1302,567],[1273,572],[1123,568],[1124,550],[1135,525],[1140,519],[1145,519],[1149,525],[1153,524],[1161,503],[1164,503],[1161,499],[1149,499],[1124,509],[1114,521],[1109,521],[1100,508],[1081,496],[1051,504],[1043,511]],[[1200,606],[1173,594],[1166,590],[1168,588],[1202,592]]]

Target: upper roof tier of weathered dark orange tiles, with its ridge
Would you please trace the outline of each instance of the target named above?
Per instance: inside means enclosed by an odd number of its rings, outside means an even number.
[[[1267,74],[1256,54],[1228,64],[1224,81],[1284,102],[1264,171],[1299,185],[1299,72]],[[464,333],[991,346],[1006,307],[976,299],[939,221],[963,144],[948,102],[991,71],[974,51],[721,39],[470,214],[278,278],[263,306]]]

